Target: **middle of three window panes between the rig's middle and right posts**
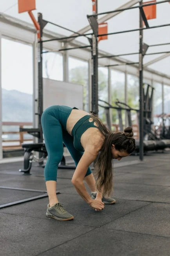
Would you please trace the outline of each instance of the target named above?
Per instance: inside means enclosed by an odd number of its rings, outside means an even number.
[[[111,70],[111,104],[116,106],[117,100],[125,102],[125,73]],[[122,121],[125,124],[125,112],[121,111]],[[118,111],[112,109],[112,123],[119,124]]]

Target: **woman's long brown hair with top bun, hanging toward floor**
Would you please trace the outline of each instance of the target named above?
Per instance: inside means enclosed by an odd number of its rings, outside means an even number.
[[[112,144],[116,150],[131,154],[136,148],[135,139],[132,138],[134,133],[130,126],[125,128],[124,132],[112,133],[98,117],[94,115],[90,117],[97,123],[99,131],[104,137],[104,143],[94,165],[96,188],[98,191],[103,190],[103,196],[109,196],[113,191]]]

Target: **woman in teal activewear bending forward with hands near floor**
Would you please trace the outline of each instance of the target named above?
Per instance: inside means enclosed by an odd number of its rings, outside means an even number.
[[[63,143],[76,163],[72,184],[78,194],[95,210],[103,210],[104,203],[115,203],[108,198],[113,188],[112,159],[121,160],[135,149],[132,128],[111,133],[96,116],[67,106],[51,106],[42,114],[42,129],[48,153],[44,177],[49,196],[46,216],[57,220],[71,220],[56,196],[57,168],[63,156]],[[96,160],[96,181],[90,164]],[[87,192],[83,181],[92,192]],[[105,196],[105,197],[103,197]]]

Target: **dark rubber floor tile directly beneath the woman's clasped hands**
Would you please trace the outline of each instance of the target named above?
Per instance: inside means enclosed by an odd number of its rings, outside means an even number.
[[[116,204],[105,205],[102,211],[95,211],[79,195],[59,194],[58,199],[65,206],[67,206],[65,202],[69,202],[67,210],[74,215],[74,223],[93,227],[104,225],[119,216],[123,216],[128,212],[149,204],[148,202],[142,201],[117,199]]]

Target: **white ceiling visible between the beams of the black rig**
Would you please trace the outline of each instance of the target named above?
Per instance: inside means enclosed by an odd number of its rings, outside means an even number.
[[[126,0],[98,0],[98,13],[114,10],[127,2],[128,1]],[[1,0],[0,12],[32,23],[27,13],[18,14],[18,0]],[[36,10],[33,11],[35,17],[37,17],[38,12],[43,14],[43,19],[45,20],[49,20],[61,26],[67,27],[73,31],[79,31],[83,27],[89,25],[87,14],[92,14],[92,0],[36,0]],[[99,18],[101,18],[101,16],[99,16]],[[168,2],[158,4],[157,18],[148,20],[149,26],[157,26],[168,23],[170,23],[170,4]],[[119,15],[116,15],[108,20],[109,33],[136,29],[138,27],[138,8],[123,11]],[[63,30],[51,24],[47,24],[45,28],[66,36],[72,34],[69,31]],[[76,38],[76,40],[88,44],[86,38]],[[144,30],[143,41],[148,45],[170,42],[170,27],[167,26]],[[139,51],[139,31],[110,35],[108,40],[99,42],[99,49],[108,52],[111,55]],[[160,51],[170,51],[170,45],[150,47],[147,53]],[[161,55],[145,56],[144,64],[150,60],[156,59],[159,56]],[[128,55],[125,56],[125,59],[137,62],[138,55]],[[170,56],[151,64],[148,67],[170,75]]]

